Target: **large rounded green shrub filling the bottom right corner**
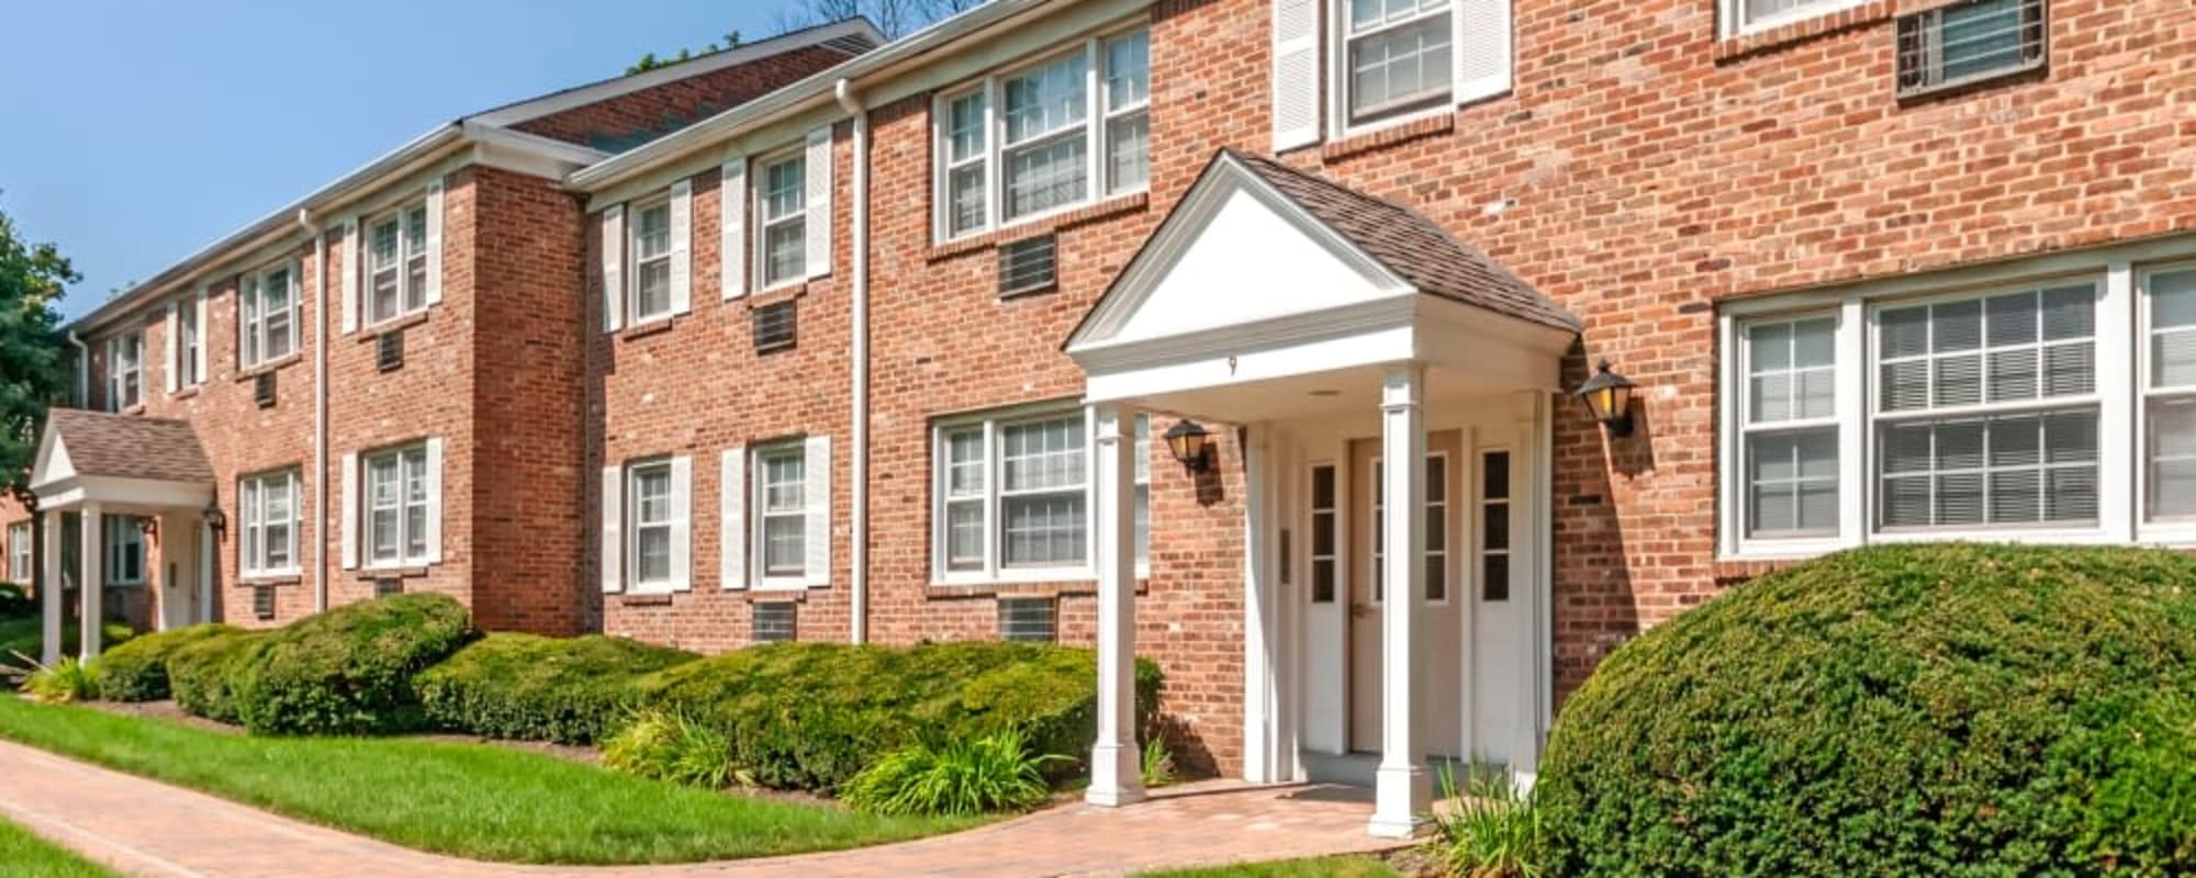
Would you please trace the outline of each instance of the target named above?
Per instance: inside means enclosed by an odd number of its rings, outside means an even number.
[[[2196,558],[1928,544],[1618,648],[1535,790],[1559,876],[2196,869]]]

